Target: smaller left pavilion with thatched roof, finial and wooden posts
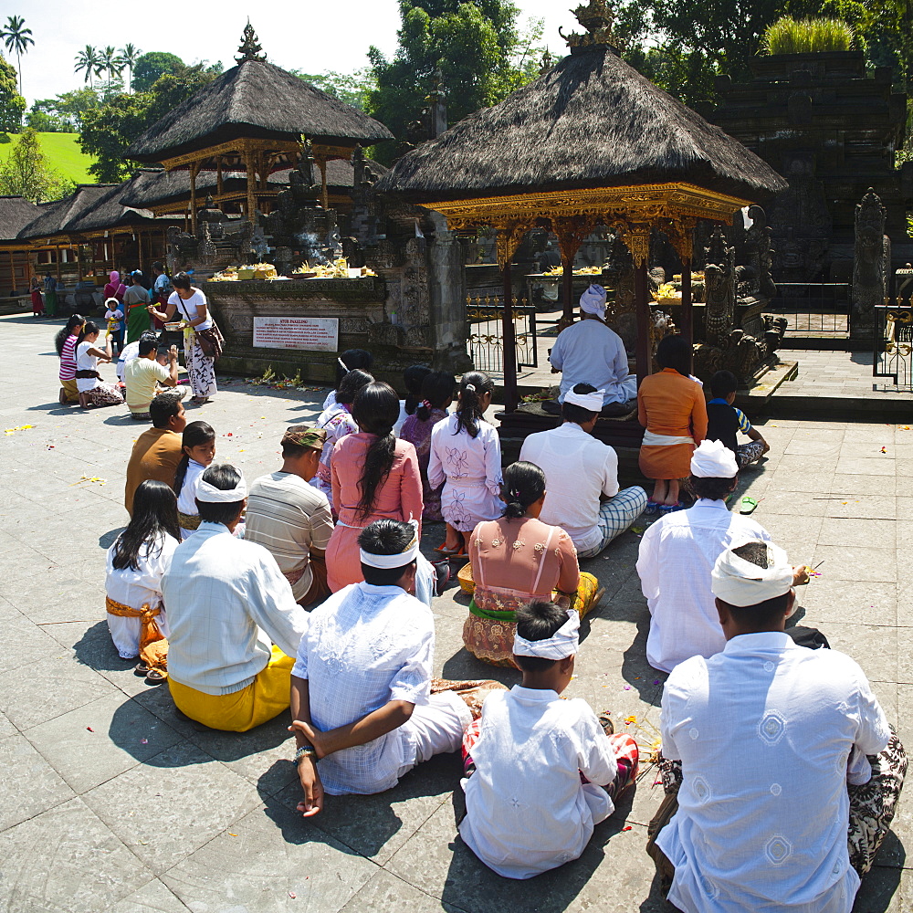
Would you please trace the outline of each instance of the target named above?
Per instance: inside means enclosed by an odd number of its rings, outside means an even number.
[[[161,163],[169,172],[190,172],[194,231],[201,171],[215,173],[217,201],[225,196],[226,173],[245,173],[244,207],[254,221],[257,206],[268,211],[278,194],[269,175],[295,167],[302,136],[310,140],[320,168],[324,208],[330,202],[327,163],[350,161],[356,145],[393,139],[382,123],[268,63],[260,50],[248,22],[237,66],[178,105],[125,153],[137,162]]]

